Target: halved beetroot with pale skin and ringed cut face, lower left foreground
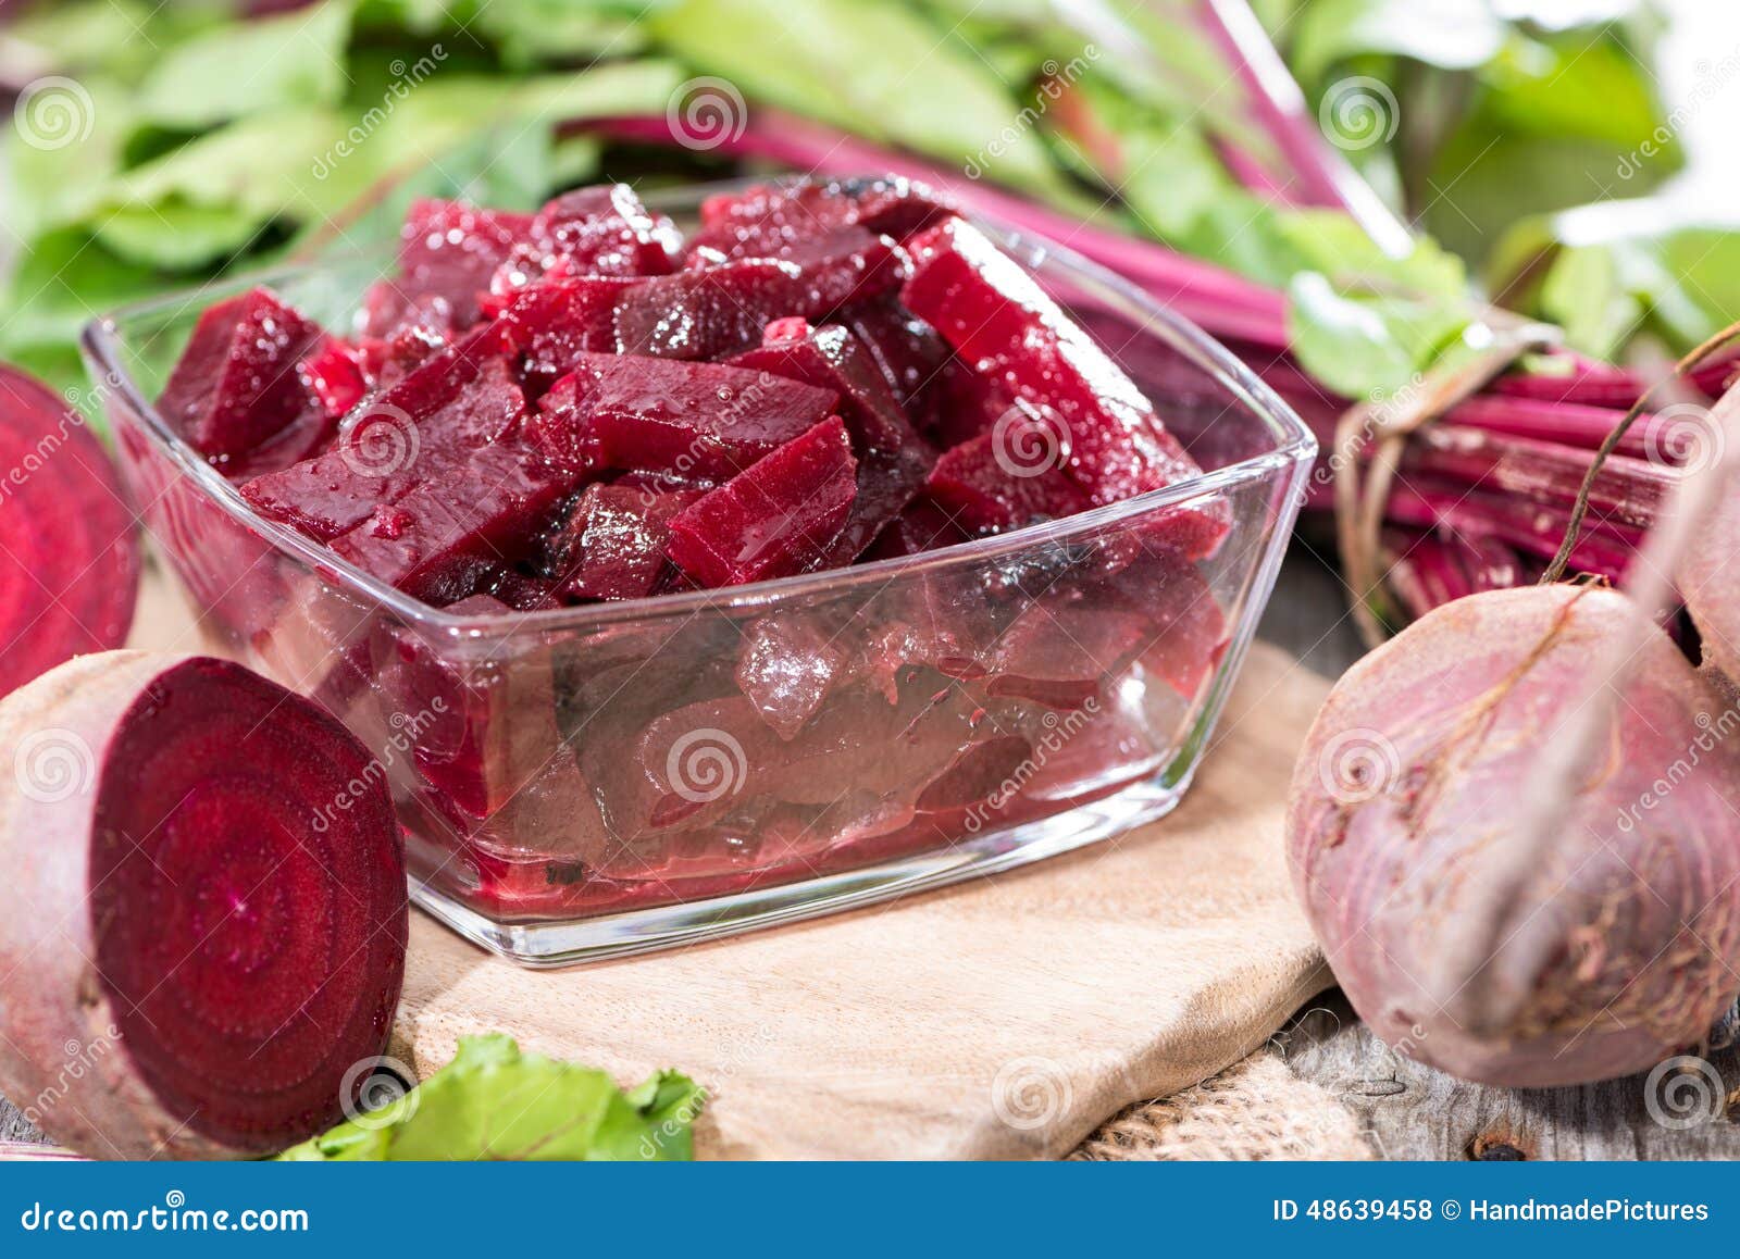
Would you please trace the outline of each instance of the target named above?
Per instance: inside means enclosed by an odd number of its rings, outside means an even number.
[[[362,743],[237,664],[104,652],[0,704],[0,1090],[104,1158],[258,1156],[338,1123],[405,962]]]

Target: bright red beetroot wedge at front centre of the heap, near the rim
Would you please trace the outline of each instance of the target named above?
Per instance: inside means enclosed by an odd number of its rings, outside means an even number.
[[[846,423],[830,416],[672,516],[666,553],[703,586],[818,569],[851,515],[856,478]]]

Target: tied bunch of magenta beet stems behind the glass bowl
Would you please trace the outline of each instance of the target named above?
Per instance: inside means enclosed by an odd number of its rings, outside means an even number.
[[[1315,127],[1268,96],[1260,101],[1270,108],[1256,122],[1275,137],[1295,177],[1277,181],[1239,155],[1225,155],[1228,169],[1279,205],[1342,209],[1387,249],[1399,236],[1404,247],[1406,231],[1376,207]],[[637,144],[677,143],[663,117],[586,129]],[[1354,400],[1315,381],[1289,353],[1282,292],[1213,263],[774,110],[753,110],[715,155],[818,176],[886,170],[927,183],[971,210],[1117,271],[1218,337],[1317,436],[1319,466],[1303,508],[1307,522],[1342,516],[1343,570],[1368,640],[1463,595],[1536,581],[1568,534],[1575,534],[1573,572],[1618,583],[1681,466],[1709,445],[1703,412],[1669,405],[1639,414],[1604,452],[1627,407],[1644,395],[1644,374],[1557,350],[1550,329],[1519,327],[1505,311],[1489,311],[1491,350],[1449,379],[1427,372],[1390,398]],[[1690,372],[1684,386],[1709,400],[1733,372],[1730,355]],[[1348,431],[1359,438],[1352,447]],[[1397,433],[1404,440],[1385,442]],[[1364,508],[1354,510],[1348,485],[1359,485],[1375,454],[1389,456],[1392,466],[1378,478],[1382,494],[1368,494]],[[1599,464],[1597,456],[1604,456]],[[1592,468],[1599,468],[1594,476]]]

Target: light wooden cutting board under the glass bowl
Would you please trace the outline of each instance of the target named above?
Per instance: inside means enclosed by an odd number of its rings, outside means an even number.
[[[162,586],[141,619],[137,645],[198,647]],[[625,1083],[675,1066],[712,1094],[701,1156],[1068,1153],[1328,988],[1281,835],[1326,689],[1258,645],[1171,817],[849,915],[532,972],[416,913],[393,1054],[426,1075],[508,1031]]]

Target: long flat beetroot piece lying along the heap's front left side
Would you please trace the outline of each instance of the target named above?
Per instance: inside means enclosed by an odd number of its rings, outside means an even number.
[[[524,410],[505,358],[477,362],[456,346],[365,402],[331,450],[256,476],[242,485],[242,497],[268,520],[329,543],[378,506],[463,466]]]

